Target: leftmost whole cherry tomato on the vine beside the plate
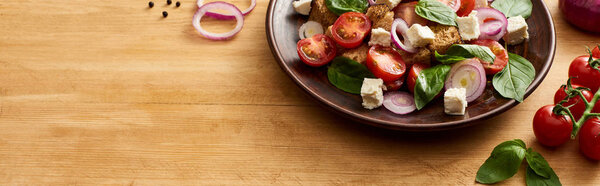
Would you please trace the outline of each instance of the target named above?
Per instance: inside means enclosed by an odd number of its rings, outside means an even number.
[[[535,113],[533,133],[542,145],[554,147],[569,140],[573,124],[568,116],[557,116],[552,109],[554,105],[546,105]]]

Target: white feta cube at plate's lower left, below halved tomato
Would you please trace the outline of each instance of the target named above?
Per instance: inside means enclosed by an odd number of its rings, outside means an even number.
[[[383,104],[383,85],[382,79],[365,78],[360,87],[360,96],[363,98],[363,107],[372,110]]]

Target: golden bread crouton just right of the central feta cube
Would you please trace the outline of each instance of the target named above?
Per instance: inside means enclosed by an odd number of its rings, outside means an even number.
[[[433,52],[438,51],[440,54],[445,54],[446,50],[453,44],[462,42],[458,29],[454,26],[435,25],[431,26],[431,31],[435,34],[435,39],[427,48]]]

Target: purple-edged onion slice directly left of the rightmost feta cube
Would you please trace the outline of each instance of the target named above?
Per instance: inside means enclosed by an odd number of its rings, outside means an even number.
[[[506,34],[506,28],[508,26],[508,20],[504,14],[493,8],[478,8],[477,19],[479,19],[479,29],[481,34],[479,39],[491,39],[494,41],[500,40],[504,34]],[[500,31],[496,32],[494,28],[500,25]],[[490,30],[491,29],[491,30]]]

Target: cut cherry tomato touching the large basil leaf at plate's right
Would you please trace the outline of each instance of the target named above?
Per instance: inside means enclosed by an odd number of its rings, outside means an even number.
[[[492,50],[494,55],[496,55],[496,60],[494,60],[494,64],[490,64],[489,62],[479,60],[483,65],[483,68],[485,69],[485,74],[494,75],[502,71],[502,69],[504,69],[504,67],[508,63],[508,52],[497,41],[491,39],[476,40],[473,41],[472,44],[476,44],[479,46],[487,46]]]

